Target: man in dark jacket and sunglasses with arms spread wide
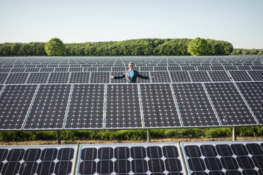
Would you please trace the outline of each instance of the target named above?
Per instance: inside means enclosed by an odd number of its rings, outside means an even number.
[[[129,71],[125,71],[122,76],[110,76],[110,78],[119,79],[119,78],[126,78],[129,83],[136,83],[136,78],[150,79],[153,78],[152,76],[141,76],[138,71],[134,71],[134,64],[129,62]]]

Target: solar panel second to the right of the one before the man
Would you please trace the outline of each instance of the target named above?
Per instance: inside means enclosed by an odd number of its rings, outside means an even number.
[[[220,126],[201,83],[173,83],[183,126]]]

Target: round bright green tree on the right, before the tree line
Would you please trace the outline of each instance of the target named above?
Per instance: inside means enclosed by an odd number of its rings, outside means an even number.
[[[197,37],[187,44],[187,52],[193,56],[200,56],[206,54],[207,42],[204,39]]]

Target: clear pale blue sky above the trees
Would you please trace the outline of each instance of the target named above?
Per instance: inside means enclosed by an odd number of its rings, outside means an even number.
[[[0,43],[210,38],[263,49],[263,0],[0,0]]]

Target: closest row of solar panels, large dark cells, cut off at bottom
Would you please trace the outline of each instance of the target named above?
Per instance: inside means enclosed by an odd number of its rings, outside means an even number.
[[[0,174],[261,175],[262,162],[262,140],[0,146]]]

